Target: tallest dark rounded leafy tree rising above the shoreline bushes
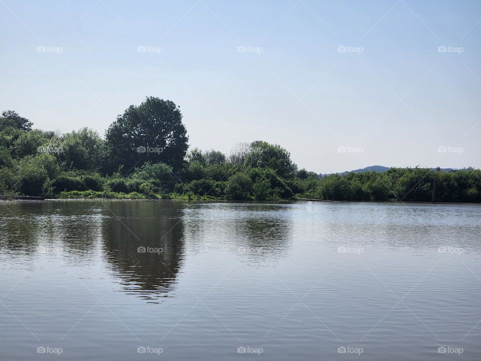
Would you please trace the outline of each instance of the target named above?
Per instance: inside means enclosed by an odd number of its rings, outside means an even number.
[[[130,171],[145,162],[163,162],[177,169],[188,148],[182,114],[174,102],[147,97],[119,115],[106,132],[110,168]]]

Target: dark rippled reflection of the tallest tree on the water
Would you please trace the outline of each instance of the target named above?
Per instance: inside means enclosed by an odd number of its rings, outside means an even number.
[[[183,260],[181,203],[117,202],[103,211],[105,259],[129,293],[167,295]]]

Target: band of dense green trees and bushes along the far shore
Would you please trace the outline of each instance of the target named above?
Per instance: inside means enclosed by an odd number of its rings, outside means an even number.
[[[15,111],[0,117],[0,194],[50,198],[178,198],[481,202],[481,171],[390,168],[319,177],[264,141],[187,152],[179,107],[148,97],[131,105],[105,139],[83,128],[32,128]]]

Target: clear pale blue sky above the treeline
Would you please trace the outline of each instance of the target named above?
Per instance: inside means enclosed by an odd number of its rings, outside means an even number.
[[[146,96],[189,145],[299,168],[481,167],[479,1],[0,0],[0,108],[104,135]]]

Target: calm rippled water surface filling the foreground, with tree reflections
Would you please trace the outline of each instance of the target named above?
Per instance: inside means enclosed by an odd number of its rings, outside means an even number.
[[[0,360],[480,360],[480,237],[478,205],[2,203]]]

